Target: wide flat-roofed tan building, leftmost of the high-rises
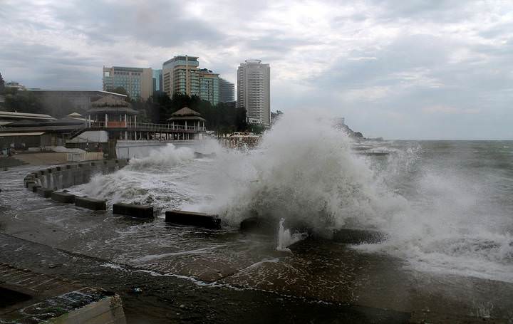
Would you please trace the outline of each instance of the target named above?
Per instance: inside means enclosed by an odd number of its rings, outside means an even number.
[[[123,87],[130,98],[146,100],[153,93],[151,68],[103,67],[103,91]]]

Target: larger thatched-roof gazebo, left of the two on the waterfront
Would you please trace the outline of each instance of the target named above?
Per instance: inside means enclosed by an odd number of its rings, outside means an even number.
[[[113,96],[102,97],[91,103],[88,110],[89,123],[105,123],[105,127],[125,128],[130,125],[137,127],[137,110],[132,105]]]

